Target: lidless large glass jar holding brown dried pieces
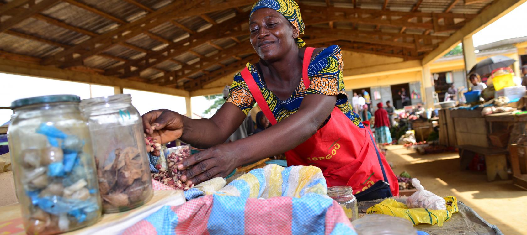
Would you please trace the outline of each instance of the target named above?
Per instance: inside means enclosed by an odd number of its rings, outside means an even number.
[[[148,202],[153,189],[141,115],[129,94],[82,100],[89,122],[105,213]]]

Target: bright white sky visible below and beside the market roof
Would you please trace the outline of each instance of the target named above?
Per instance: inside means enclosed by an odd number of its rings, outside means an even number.
[[[474,46],[479,46],[491,42],[496,42],[512,37],[527,36],[525,22],[527,22],[527,3],[524,3],[514,9],[509,14],[501,17],[494,23],[483,28],[473,36]],[[90,97],[99,97],[112,95],[113,87],[89,85],[77,82],[66,82],[51,79],[41,79],[36,77],[12,75],[0,73],[0,106],[10,106],[11,102],[16,99],[38,95],[51,94],[76,94],[81,99]],[[143,92],[137,90],[124,89],[124,93],[132,94],[132,103],[141,114],[155,109],[170,109],[182,114],[187,112],[185,100],[180,96],[165,95],[152,92]],[[211,114],[203,114],[203,111],[209,109],[212,102],[204,96],[191,98],[191,109],[204,118],[209,118]],[[0,124],[5,123],[11,116],[11,110],[0,109]]]

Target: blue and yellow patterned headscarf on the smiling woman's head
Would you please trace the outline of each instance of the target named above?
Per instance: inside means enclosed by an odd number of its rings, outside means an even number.
[[[253,12],[261,8],[271,8],[279,12],[297,28],[299,34],[304,34],[305,25],[300,15],[300,7],[298,7],[298,4],[294,0],[259,0],[252,6],[249,17],[251,17]],[[296,38],[296,43],[298,47],[304,47],[306,45],[300,37]]]

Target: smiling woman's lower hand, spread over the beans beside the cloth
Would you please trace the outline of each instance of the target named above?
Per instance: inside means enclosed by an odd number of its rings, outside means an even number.
[[[181,176],[183,182],[191,181],[194,185],[216,177],[226,177],[239,167],[240,153],[233,142],[219,144],[189,156],[178,165],[178,170],[187,169]]]

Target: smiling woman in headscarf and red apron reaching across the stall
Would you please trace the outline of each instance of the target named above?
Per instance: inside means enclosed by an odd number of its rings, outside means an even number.
[[[250,43],[260,57],[234,76],[225,104],[210,119],[170,110],[143,115],[145,133],[207,149],[178,165],[194,184],[226,177],[240,165],[286,153],[288,165],[314,165],[328,187],[349,185],[359,200],[398,195],[395,174],[369,129],[347,102],[340,47],[305,47],[293,0],[260,0],[249,17]],[[224,143],[257,103],[272,126]]]

